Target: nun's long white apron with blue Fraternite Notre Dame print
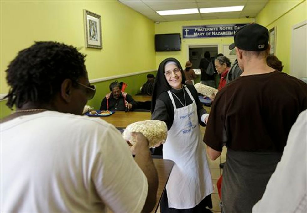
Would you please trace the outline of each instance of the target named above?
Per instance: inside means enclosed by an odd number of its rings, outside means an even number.
[[[166,184],[169,208],[190,209],[213,192],[205,144],[198,123],[197,107],[192,104],[177,109],[173,95],[174,121],[163,144],[163,159],[175,162]]]

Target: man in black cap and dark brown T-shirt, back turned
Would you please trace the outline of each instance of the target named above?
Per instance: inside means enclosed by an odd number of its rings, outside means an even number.
[[[242,75],[217,93],[204,142],[215,160],[226,145],[222,205],[251,212],[283,153],[291,126],[307,108],[307,84],[266,63],[268,29],[247,24],[234,35]]]

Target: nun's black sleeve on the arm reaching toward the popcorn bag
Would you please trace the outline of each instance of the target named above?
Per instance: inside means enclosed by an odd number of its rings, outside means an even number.
[[[165,103],[162,100],[157,99],[151,119],[164,121],[167,125],[167,130],[169,130],[173,125],[174,116],[173,119],[170,118]]]

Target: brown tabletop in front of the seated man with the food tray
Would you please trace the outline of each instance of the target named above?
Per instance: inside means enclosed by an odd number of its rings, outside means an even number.
[[[107,117],[100,117],[101,119],[113,124],[117,128],[126,128],[127,125],[137,121],[151,120],[150,112],[124,112],[116,111],[114,114]]]

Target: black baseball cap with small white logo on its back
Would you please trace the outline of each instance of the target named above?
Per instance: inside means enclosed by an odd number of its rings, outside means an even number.
[[[256,24],[247,24],[234,35],[234,43],[229,45],[229,50],[238,47],[247,51],[264,51],[268,47],[269,32],[268,29]]]

